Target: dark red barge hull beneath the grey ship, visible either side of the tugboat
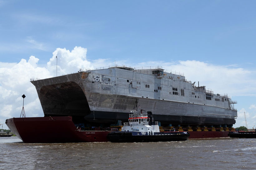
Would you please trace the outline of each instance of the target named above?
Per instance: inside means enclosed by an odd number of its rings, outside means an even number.
[[[7,126],[25,143],[108,142],[111,131],[77,130],[71,116],[7,119]],[[190,131],[189,139],[228,137],[229,131]]]

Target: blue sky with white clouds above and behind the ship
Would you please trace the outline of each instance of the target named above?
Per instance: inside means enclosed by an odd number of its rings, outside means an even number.
[[[1,97],[4,101],[0,107],[7,110],[0,123],[7,116],[19,116],[19,105],[12,103],[24,89],[35,91],[23,81],[24,88],[8,87],[9,73],[27,69],[27,77],[54,76],[53,53],[64,58],[77,46],[86,67],[113,65],[116,60],[119,65],[160,65],[184,72],[187,79],[200,81],[214,93],[231,95],[238,101],[236,125],[244,126],[246,112],[252,127],[256,124],[255,5],[255,1],[0,0],[0,101]],[[81,54],[77,50],[74,54]],[[60,74],[78,70],[65,68],[67,61],[60,61]],[[27,67],[22,68],[22,63]],[[37,94],[30,98],[28,104]],[[43,116],[40,107],[27,112]]]

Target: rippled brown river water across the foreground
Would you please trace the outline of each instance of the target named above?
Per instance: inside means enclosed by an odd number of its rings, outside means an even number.
[[[256,138],[27,144],[1,137],[0,169],[256,169]]]

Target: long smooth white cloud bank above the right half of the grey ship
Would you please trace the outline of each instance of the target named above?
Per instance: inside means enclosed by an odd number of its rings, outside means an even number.
[[[127,62],[126,62],[127,63]],[[129,65],[132,65],[129,64]],[[172,72],[184,73],[187,80],[195,81],[195,85],[204,85],[214,94],[230,96],[256,96],[255,71],[232,66],[213,65],[206,62],[187,60],[177,62],[150,61],[135,64],[136,67],[159,65]]]

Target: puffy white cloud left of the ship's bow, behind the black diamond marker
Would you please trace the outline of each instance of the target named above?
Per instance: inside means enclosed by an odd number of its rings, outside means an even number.
[[[43,116],[41,104],[31,77],[47,78],[52,74],[45,67],[38,67],[38,58],[30,56],[29,60],[21,59],[18,63],[1,62],[0,68],[0,121],[11,117],[19,117],[22,110],[22,94],[26,95],[24,104],[27,117],[35,113]],[[18,109],[17,109],[18,108]],[[27,109],[27,110],[26,110]],[[6,127],[7,128],[7,127]]]

